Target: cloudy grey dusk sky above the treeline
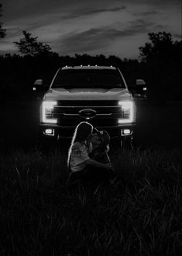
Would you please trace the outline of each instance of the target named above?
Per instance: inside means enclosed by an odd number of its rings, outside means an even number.
[[[138,58],[148,33],[181,40],[181,0],[0,0],[6,37],[0,54],[16,53],[22,30],[60,56]]]

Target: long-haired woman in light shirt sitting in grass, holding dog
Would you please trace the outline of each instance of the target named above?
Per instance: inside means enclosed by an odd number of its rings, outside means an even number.
[[[91,181],[93,177],[97,176],[98,170],[103,170],[103,172],[105,170],[106,174],[107,171],[113,169],[110,161],[108,163],[99,163],[88,156],[87,142],[91,139],[92,135],[93,126],[88,122],[81,122],[75,128],[67,158],[70,181]]]

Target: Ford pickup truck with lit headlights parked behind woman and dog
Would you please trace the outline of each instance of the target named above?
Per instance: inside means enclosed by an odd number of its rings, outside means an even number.
[[[139,89],[145,82],[138,79]],[[41,90],[43,80],[34,82]],[[119,146],[132,142],[136,103],[122,72],[113,66],[65,66],[57,70],[39,108],[39,132],[44,139],[71,138],[74,128],[88,121],[106,130]]]

